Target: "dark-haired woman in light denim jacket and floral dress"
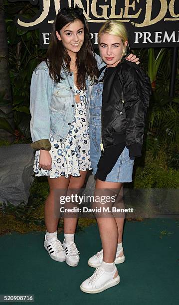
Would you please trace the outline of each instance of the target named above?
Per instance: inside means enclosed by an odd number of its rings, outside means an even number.
[[[77,215],[64,217],[62,244],[57,238],[55,191],[61,190],[64,195],[72,189],[78,192],[91,169],[87,118],[90,92],[101,64],[100,56],[93,51],[83,10],[60,9],[53,23],[47,59],[32,75],[30,128],[31,147],[36,150],[34,172],[36,176],[48,176],[50,189],[44,207],[44,247],[53,260],[66,260],[73,267],[79,262],[74,243]]]

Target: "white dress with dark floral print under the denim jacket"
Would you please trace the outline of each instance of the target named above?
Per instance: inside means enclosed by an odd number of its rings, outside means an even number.
[[[75,117],[65,142],[61,144],[50,135],[52,168],[50,170],[39,168],[40,151],[36,151],[33,166],[35,176],[78,177],[80,170],[91,169],[89,130],[86,124],[86,91],[79,90],[74,85],[74,95],[77,94],[80,96],[80,102],[75,103]]]

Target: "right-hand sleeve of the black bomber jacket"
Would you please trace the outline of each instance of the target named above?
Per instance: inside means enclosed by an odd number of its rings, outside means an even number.
[[[147,107],[143,103],[144,86],[133,67],[126,72],[123,88],[123,105],[127,118],[126,146],[130,157],[142,154]]]

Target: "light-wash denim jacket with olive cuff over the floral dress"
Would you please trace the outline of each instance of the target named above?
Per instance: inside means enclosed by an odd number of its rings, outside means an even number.
[[[100,69],[104,63],[95,54]],[[63,143],[75,116],[74,75],[61,69],[64,78],[55,83],[49,76],[48,67],[42,61],[33,71],[30,86],[30,132],[34,150],[50,150],[50,134]],[[92,90],[90,77],[86,80],[87,122],[89,122],[89,99]]]

